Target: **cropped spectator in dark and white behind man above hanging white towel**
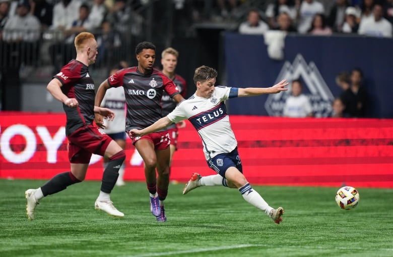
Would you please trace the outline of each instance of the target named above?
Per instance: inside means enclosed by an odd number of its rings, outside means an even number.
[[[293,0],[275,0],[266,8],[269,27],[276,29],[279,27],[278,19],[280,14],[286,13],[291,20],[296,18],[296,9]]]

